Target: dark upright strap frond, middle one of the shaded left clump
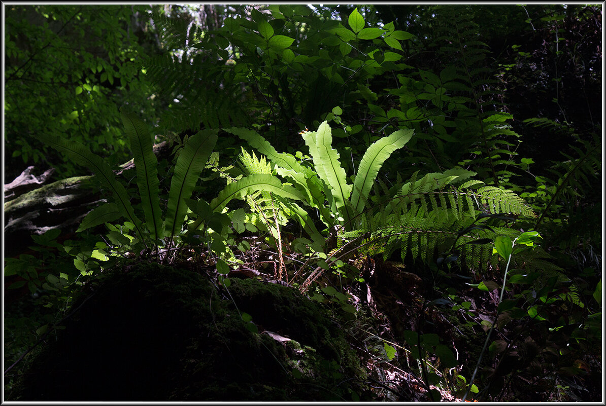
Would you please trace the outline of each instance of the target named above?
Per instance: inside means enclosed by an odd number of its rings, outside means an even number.
[[[137,186],[141,196],[141,205],[145,214],[147,229],[153,241],[164,237],[162,229],[162,212],[160,210],[160,191],[158,180],[158,159],[153,153],[153,146],[147,125],[134,114],[121,112],[126,134],[130,139]]]

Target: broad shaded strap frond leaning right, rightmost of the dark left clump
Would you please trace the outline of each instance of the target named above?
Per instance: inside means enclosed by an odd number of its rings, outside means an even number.
[[[196,182],[217,142],[214,129],[202,129],[191,136],[175,164],[175,174],[170,182],[166,212],[166,231],[172,236],[181,231],[187,213],[185,199],[190,198]],[[198,224],[199,225],[199,224]]]

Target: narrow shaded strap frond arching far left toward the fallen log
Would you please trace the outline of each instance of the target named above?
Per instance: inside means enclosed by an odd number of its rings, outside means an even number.
[[[40,134],[38,137],[57,151],[63,152],[72,158],[78,165],[86,166],[90,171],[94,172],[99,182],[112,192],[120,214],[135,224],[139,238],[143,240],[141,220],[136,217],[135,211],[133,211],[133,206],[130,204],[126,189],[122,186],[122,183],[116,180],[116,175],[112,172],[112,168],[101,157],[93,154],[88,148],[76,141],[62,139],[49,134]]]

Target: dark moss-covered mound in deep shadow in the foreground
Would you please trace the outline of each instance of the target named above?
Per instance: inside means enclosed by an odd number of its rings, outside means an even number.
[[[205,278],[158,264],[116,270],[75,304],[7,400],[352,399],[364,372],[323,309],[253,280],[229,292],[233,300],[222,300]]]

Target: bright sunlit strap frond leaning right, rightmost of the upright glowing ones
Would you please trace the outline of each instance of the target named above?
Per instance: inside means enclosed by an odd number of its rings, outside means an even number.
[[[413,136],[412,129],[400,129],[388,137],[377,140],[369,146],[362,161],[358,167],[358,174],[353,182],[353,192],[351,194],[351,205],[356,214],[364,210],[368,193],[372,189],[373,183],[379,169],[396,149],[402,148]]]

